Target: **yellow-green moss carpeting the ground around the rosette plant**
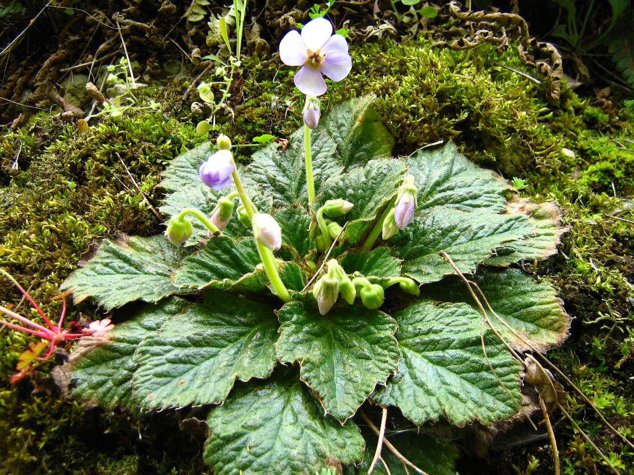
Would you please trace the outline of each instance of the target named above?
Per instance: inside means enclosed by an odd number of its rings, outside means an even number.
[[[536,201],[557,200],[566,208],[571,232],[562,243],[564,254],[534,270],[559,288],[568,312],[576,317],[572,338],[552,358],[626,431],[624,421],[631,421],[634,403],[628,376],[634,370],[634,336],[629,329],[634,264],[628,257],[634,231],[630,223],[616,219],[632,220],[631,211],[617,217],[611,213],[618,205],[614,190],[617,198],[633,193],[632,153],[623,148],[634,149],[629,142],[634,135],[634,102],[614,105],[614,113],[568,91],[558,106],[547,105],[539,85],[500,66],[534,74],[522,65],[512,45],[501,56],[487,44],[471,51],[430,49],[425,39],[401,46],[388,41],[353,45],[351,51],[353,73],[329,87],[323,113],[349,97],[377,94],[380,115],[397,138],[397,153],[406,155],[422,144],[453,139],[477,162],[525,179],[522,194]],[[219,118],[218,129],[238,144],[249,144],[264,133],[288,137],[301,120],[301,96],[294,90],[293,74],[294,68],[280,68],[276,60],[244,58],[245,98],[235,117],[225,117],[224,122]],[[61,303],[48,298],[58,293],[58,284],[91,242],[117,231],[160,231],[160,220],[115,153],[152,205],[158,206],[155,185],[165,163],[207,139],[195,135],[195,123],[202,117],[190,117],[188,105],[180,101],[182,92],[178,82],[144,92],[163,102],[165,114],[173,117],[169,120],[133,110],[118,122],[105,120],[79,134],[74,125],[42,114],[28,127],[0,136],[0,265],[23,284],[34,284],[31,293],[47,314],[61,311]],[[564,153],[564,147],[574,155]],[[19,170],[11,170],[18,150]],[[251,153],[250,148],[240,149],[243,160]],[[6,280],[0,282],[0,295],[3,305],[20,298]],[[87,317],[95,315],[94,309],[81,310]],[[32,313],[25,307],[21,311]],[[69,319],[79,318],[78,312],[72,308]],[[200,440],[183,436],[172,447],[162,444],[162,436],[178,432],[179,414],[144,419],[84,412],[61,400],[49,383],[53,362],[41,365],[41,379],[34,379],[44,392],[31,394],[29,381],[9,386],[18,355],[34,341],[7,329],[0,333],[0,439],[7,441],[0,447],[0,473],[204,471]],[[632,456],[578,398],[572,400],[571,410],[578,420],[585,419],[583,427],[608,452],[624,453],[623,472],[632,471]],[[90,436],[88,430],[93,431]],[[559,430],[567,472],[605,471],[573,429],[562,424]],[[178,453],[182,447],[188,451]],[[550,466],[545,448],[536,447],[531,455],[542,460],[542,467]],[[510,457],[516,457],[516,466],[526,466],[526,452]],[[510,472],[513,464],[505,463],[500,473]]]

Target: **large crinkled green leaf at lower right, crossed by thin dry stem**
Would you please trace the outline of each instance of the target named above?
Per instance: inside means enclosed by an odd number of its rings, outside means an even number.
[[[482,352],[482,317],[469,305],[419,301],[394,314],[401,348],[396,376],[371,398],[396,405],[415,424],[446,417],[452,424],[508,417],[517,405],[491,373]],[[515,400],[521,366],[485,329],[488,360]]]

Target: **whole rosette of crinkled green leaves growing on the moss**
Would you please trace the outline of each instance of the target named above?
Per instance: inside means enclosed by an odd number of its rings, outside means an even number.
[[[524,337],[498,325],[510,345],[545,351],[566,338],[569,317],[550,284],[511,266],[556,252],[559,208],[520,200],[451,143],[391,158],[394,139],[372,102],[339,105],[313,129],[311,206],[303,130],[286,149],[269,144],[236,164],[241,189],[200,182],[209,143],[175,158],[161,183],[167,217],[209,215],[236,191],[252,208],[211,235],[193,220],[184,246],[163,235],[106,240],[68,277],[75,303],[91,298],[117,324],[70,355],[74,398],[106,409],[210,405],[204,459],[218,475],[314,473],[328,457],[367,470],[376,437],[362,429],[361,412],[374,415],[366,402],[398,406],[394,445],[444,474],[458,453],[443,431],[516,415],[521,365],[439,252]],[[271,233],[266,266],[259,227]],[[318,250],[318,238],[330,245]],[[147,305],[117,315],[135,300]]]

